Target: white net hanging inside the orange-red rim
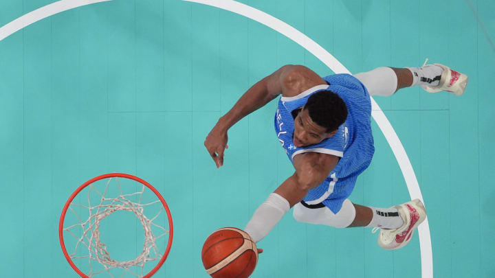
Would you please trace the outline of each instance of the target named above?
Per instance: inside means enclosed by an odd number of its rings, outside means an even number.
[[[109,198],[107,195],[109,185],[115,179],[117,181],[118,186],[118,196],[114,198]],[[164,227],[153,223],[160,213],[164,211],[164,207],[160,206],[158,213],[156,213],[152,218],[146,217],[144,214],[144,208],[150,205],[156,204],[157,202],[161,202],[161,200],[157,199],[153,202],[147,202],[142,204],[142,194],[144,189],[146,188],[144,185],[141,186],[140,191],[133,192],[130,194],[124,194],[122,192],[122,188],[120,187],[120,182],[118,181],[118,177],[109,178],[107,181],[107,185],[104,187],[104,192],[98,192],[96,187],[93,184],[89,184],[89,190],[87,193],[87,205],[76,204],[71,202],[69,205],[69,210],[74,213],[76,216],[78,223],[72,224],[68,227],[63,227],[63,231],[67,231],[70,235],[76,238],[77,243],[74,248],[73,253],[68,253],[70,259],[89,259],[89,273],[86,273],[88,277],[94,277],[100,273],[107,272],[111,277],[114,277],[112,273],[109,271],[111,268],[123,268],[124,272],[121,277],[124,277],[125,273],[132,273],[136,277],[144,276],[144,265],[146,262],[156,261],[162,258],[162,253],[159,252],[159,248],[155,241],[159,238],[162,238],[164,235],[167,235],[169,231],[167,231]],[[98,205],[91,205],[90,196],[91,194],[98,194],[100,197],[100,203]],[[131,198],[136,198],[137,202],[133,202]],[[74,207],[81,207],[83,209],[89,210],[89,217],[87,219],[81,219]],[[142,227],[144,229],[144,246],[143,249],[135,259],[119,262],[115,259],[112,259],[109,252],[107,251],[107,246],[104,242],[100,241],[100,223],[104,218],[107,218],[111,213],[115,211],[131,211],[134,213],[136,218],[140,220]],[[152,231],[152,227],[156,227],[161,233],[155,235]],[[78,229],[78,231],[83,230],[82,235],[76,235],[76,233],[71,229]],[[155,229],[156,231],[156,229]],[[87,249],[87,255],[76,255],[78,252],[80,253],[80,249]],[[103,270],[94,272],[94,264],[99,263],[103,266]],[[136,273],[131,270],[131,266],[137,266],[140,268],[140,273]],[[149,275],[151,276],[151,275]],[[148,277],[148,275],[146,275]]]

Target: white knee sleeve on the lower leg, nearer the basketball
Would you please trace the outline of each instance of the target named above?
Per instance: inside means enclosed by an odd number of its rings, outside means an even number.
[[[334,214],[328,207],[309,209],[298,202],[294,206],[293,215],[299,222],[346,228],[354,221],[355,208],[349,199],[344,200],[342,208],[337,214]]]

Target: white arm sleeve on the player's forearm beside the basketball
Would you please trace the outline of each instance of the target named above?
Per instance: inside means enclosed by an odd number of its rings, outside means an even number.
[[[289,211],[290,205],[282,196],[272,193],[267,200],[261,204],[244,228],[254,242],[259,242],[272,231],[275,225]]]

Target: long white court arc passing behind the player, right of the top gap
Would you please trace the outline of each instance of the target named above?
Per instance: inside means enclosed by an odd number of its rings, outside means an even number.
[[[257,21],[267,27],[272,28],[276,32],[287,36],[291,40],[294,40],[295,43],[298,43],[300,46],[304,47],[307,51],[311,52],[316,58],[325,63],[327,67],[329,67],[335,73],[351,73],[348,69],[344,67],[335,57],[333,57],[327,50],[318,45],[314,40],[311,40],[308,36],[296,30],[296,28],[288,25],[287,23],[277,19],[270,14],[262,12],[261,10],[256,10],[255,8],[250,7],[249,5],[245,5],[243,3],[239,3],[232,0],[183,0],[190,1],[195,3],[201,3],[205,5],[211,5],[213,7],[217,7],[223,10],[228,10],[230,12],[234,12],[236,14],[240,14],[242,16],[248,17],[254,21]],[[419,189],[419,184],[417,182],[417,178],[414,170],[412,169],[412,165],[409,161],[409,158],[406,154],[406,150],[404,150],[404,146],[402,146],[399,137],[395,133],[390,121],[388,121],[387,117],[382,111],[382,108],[378,106],[378,104],[371,97],[371,115],[373,119],[375,119],[376,123],[382,130],[386,140],[388,141],[388,145],[391,146],[392,151],[395,155],[395,159],[397,159],[397,163],[399,163],[399,167],[404,175],[404,180],[406,181],[406,185],[408,187],[409,195],[411,199],[419,198],[423,201],[423,196],[421,195],[421,189]],[[424,204],[424,201],[423,201]],[[432,246],[431,246],[431,238],[430,238],[430,226],[428,224],[428,218],[419,225],[419,247],[421,249],[421,275],[423,278],[433,277],[433,255],[432,255]]]

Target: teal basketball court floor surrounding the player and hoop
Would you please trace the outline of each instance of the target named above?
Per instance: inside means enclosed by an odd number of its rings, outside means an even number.
[[[110,172],[143,178],[170,207],[173,244],[154,277],[208,277],[208,235],[243,229],[294,171],[274,132],[276,100],[229,130],[220,169],[203,146],[217,119],[286,64],[326,76],[425,58],[466,73],[465,94],[375,97],[375,156],[351,200],[390,207],[421,194],[428,229],[386,251],[371,228],[303,224],[289,211],[259,242],[252,277],[495,277],[495,1],[90,2],[0,1],[1,277],[78,277],[58,220],[79,185]],[[14,22],[52,3],[74,8]],[[141,223],[115,217],[102,228],[109,253],[132,259]]]

